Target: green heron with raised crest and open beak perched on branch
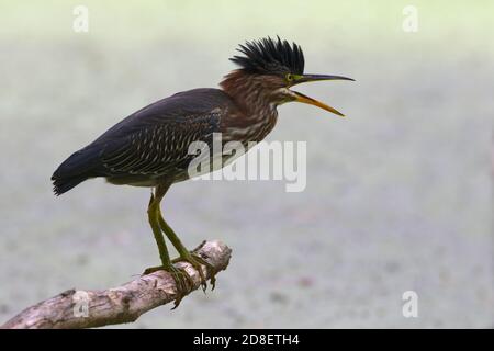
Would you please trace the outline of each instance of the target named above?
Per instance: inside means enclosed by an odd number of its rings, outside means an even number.
[[[164,219],[160,202],[171,184],[190,178],[188,166],[195,155],[188,152],[189,145],[193,141],[211,145],[215,133],[221,133],[223,144],[260,141],[274,127],[277,107],[291,101],[343,116],[335,109],[289,88],[318,80],[352,80],[304,73],[301,47],[279,37],[246,42],[239,45],[238,52],[242,55],[231,60],[239,67],[224,78],[220,83],[222,89],[179,92],[131,114],[72,154],[52,177],[57,195],[97,177],[104,177],[112,184],[154,188],[147,214],[161,265],[147,269],[144,274],[166,270],[183,292],[190,281],[175,262],[187,261],[198,269],[204,288],[200,264],[210,267],[183,246]],[[178,259],[170,260],[162,234],[177,249]],[[211,276],[214,287],[214,274]]]

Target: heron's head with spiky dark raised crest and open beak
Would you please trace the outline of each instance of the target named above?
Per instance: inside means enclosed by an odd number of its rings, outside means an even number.
[[[239,45],[237,50],[243,55],[234,56],[231,60],[237,64],[239,69],[226,76],[222,82],[225,90],[235,90],[237,95],[242,95],[251,93],[255,89],[258,98],[277,105],[296,101],[344,116],[332,106],[290,89],[311,81],[353,80],[341,76],[304,73],[304,54],[295,43],[290,45],[280,37],[268,37],[247,42]]]

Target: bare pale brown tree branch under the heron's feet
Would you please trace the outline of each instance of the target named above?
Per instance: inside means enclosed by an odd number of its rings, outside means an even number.
[[[204,241],[194,251],[213,265],[215,273],[226,269],[232,253],[221,241]],[[186,269],[194,282],[187,294],[201,285],[200,274],[190,263],[179,262],[176,265]],[[206,272],[205,265],[201,268],[210,278],[211,272]],[[68,290],[27,307],[0,329],[80,329],[131,322],[177,297],[177,286],[171,275],[157,271],[109,290]]]

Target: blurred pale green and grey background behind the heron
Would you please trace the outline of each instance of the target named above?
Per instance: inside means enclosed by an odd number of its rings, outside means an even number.
[[[89,10],[76,33],[72,11]],[[417,32],[403,14],[414,5]],[[121,118],[216,87],[237,44],[280,35],[300,90],[347,114],[288,104],[268,140],[307,141],[307,186],[184,182],[164,201],[189,247],[221,239],[207,295],[128,328],[493,327],[492,1],[1,1],[0,322],[71,288],[158,263],[147,189],[49,178]],[[418,294],[404,318],[402,294]]]

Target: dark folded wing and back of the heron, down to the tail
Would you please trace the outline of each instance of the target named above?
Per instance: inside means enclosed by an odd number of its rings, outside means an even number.
[[[157,177],[183,167],[191,157],[189,145],[209,143],[231,107],[229,97],[218,89],[190,90],[153,103],[64,161],[52,177],[55,192],[93,177]]]

